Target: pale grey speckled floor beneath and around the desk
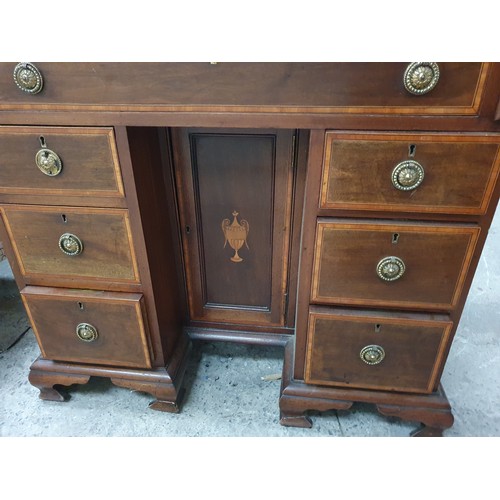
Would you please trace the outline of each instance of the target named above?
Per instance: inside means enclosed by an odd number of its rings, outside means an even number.
[[[455,416],[445,436],[500,436],[499,250],[497,212],[442,378]],[[73,386],[68,402],[42,401],[27,378],[38,346],[6,260],[0,263],[0,293],[1,436],[389,437],[416,428],[367,405],[312,413],[312,429],[282,427],[280,381],[274,377],[281,373],[282,348],[230,343],[195,344],[179,414],[149,410],[151,396],[97,378]]]

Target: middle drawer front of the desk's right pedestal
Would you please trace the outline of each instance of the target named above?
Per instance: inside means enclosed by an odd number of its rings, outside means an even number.
[[[322,219],[317,225],[311,301],[452,309],[479,231],[460,224]]]

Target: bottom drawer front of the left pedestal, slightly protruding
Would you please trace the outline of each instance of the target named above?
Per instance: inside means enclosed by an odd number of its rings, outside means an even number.
[[[142,295],[28,286],[21,297],[45,358],[151,368]]]

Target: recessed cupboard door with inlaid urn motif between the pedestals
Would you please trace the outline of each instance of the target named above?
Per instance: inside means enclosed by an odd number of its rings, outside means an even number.
[[[172,130],[191,320],[284,325],[293,137]]]

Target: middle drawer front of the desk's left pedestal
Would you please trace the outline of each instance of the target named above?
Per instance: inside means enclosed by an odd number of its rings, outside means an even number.
[[[51,275],[139,282],[126,210],[42,206],[4,206],[2,210],[28,282],[30,277],[50,281]]]

